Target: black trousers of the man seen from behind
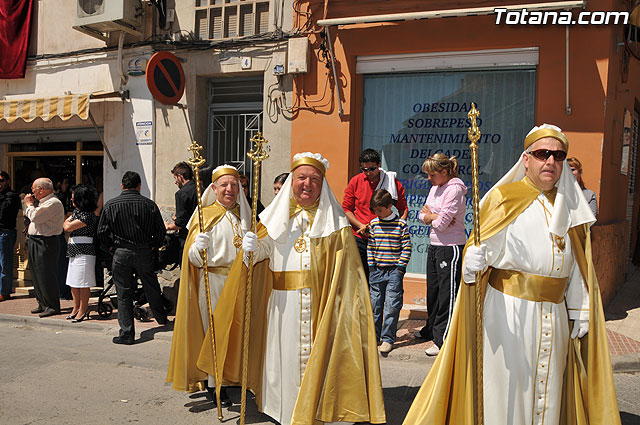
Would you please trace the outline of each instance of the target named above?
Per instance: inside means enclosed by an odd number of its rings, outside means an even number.
[[[113,253],[113,281],[118,293],[118,324],[120,338],[133,341],[135,328],[133,322],[133,294],[137,286],[134,273],[142,281],[142,289],[160,324],[167,321],[164,297],[153,270],[153,252],[151,248],[116,248]]]

